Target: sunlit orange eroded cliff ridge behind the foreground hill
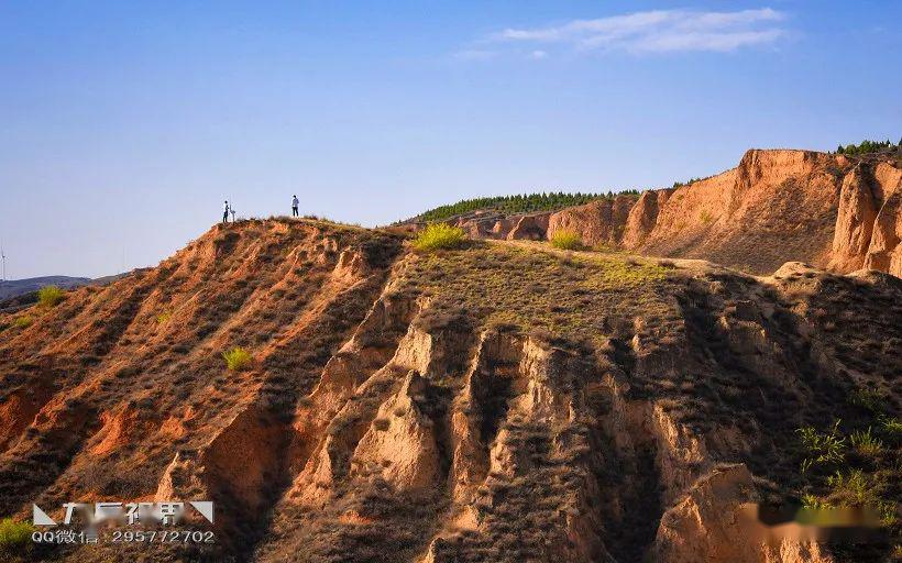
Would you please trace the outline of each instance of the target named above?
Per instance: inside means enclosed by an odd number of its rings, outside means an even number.
[[[448,222],[484,239],[573,231],[591,246],[703,258],[759,275],[803,261],[901,276],[900,198],[898,153],[752,150],[723,174],[640,197],[526,214],[475,210]]]

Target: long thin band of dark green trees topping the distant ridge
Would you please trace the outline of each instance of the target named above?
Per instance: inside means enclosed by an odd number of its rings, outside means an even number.
[[[558,192],[541,192],[541,194],[524,194],[516,196],[496,196],[488,198],[464,199],[457,203],[448,206],[440,206],[430,209],[413,220],[416,221],[442,221],[450,219],[461,213],[476,211],[480,209],[493,209],[504,213],[531,213],[536,211],[554,211],[565,207],[581,206],[588,203],[595,199],[613,199],[619,195],[638,196],[639,191],[635,189],[627,189],[618,192],[607,191],[606,194],[564,194]]]

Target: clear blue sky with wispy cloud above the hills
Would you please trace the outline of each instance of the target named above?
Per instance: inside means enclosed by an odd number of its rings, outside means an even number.
[[[0,2],[8,276],[902,135],[902,3]]]

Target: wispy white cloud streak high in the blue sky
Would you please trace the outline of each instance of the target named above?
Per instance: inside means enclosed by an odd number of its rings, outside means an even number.
[[[777,42],[788,33],[784,20],[785,14],[770,8],[735,12],[654,10],[542,27],[509,27],[493,33],[483,44],[542,44],[543,48],[558,44],[580,52],[729,52]],[[532,58],[548,55],[546,51],[532,53],[543,54]]]

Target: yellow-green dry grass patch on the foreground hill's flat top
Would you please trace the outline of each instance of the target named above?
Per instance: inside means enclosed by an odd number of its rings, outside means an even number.
[[[408,257],[408,288],[431,296],[433,311],[465,310],[486,324],[524,331],[546,330],[560,338],[598,338],[609,332],[608,314],[667,316],[672,308],[660,289],[668,271],[628,264],[618,256],[553,252],[507,244]]]

